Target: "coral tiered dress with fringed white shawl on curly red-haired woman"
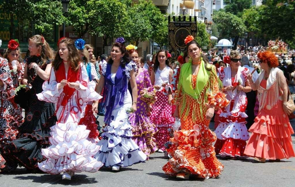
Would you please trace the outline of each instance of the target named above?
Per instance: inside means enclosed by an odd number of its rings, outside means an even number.
[[[244,154],[269,160],[294,157],[291,139],[294,131],[283,110],[281,86],[286,84],[283,72],[272,68],[268,80],[263,80],[263,75],[264,71],[255,82],[258,87],[259,113],[249,129],[252,135]]]

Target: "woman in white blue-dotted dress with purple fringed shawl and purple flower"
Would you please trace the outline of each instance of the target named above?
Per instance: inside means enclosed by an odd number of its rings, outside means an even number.
[[[120,166],[143,162],[147,156],[132,140],[132,126],[128,118],[131,109],[137,110],[137,85],[134,73],[136,64],[129,58],[123,38],[117,39],[113,44],[111,57],[102,69],[103,76],[96,90],[100,93],[104,88],[106,113],[102,139],[97,143],[100,149],[94,157],[104,163],[104,166],[112,166],[113,171],[119,171]],[[128,82],[132,96],[128,90]],[[97,106],[98,102],[93,106],[94,112],[97,111]]]

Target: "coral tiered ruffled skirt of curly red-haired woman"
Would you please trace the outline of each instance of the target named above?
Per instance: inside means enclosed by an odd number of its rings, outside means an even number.
[[[249,131],[252,135],[245,148],[246,155],[271,160],[295,156],[291,139],[294,130],[282,106],[261,110]]]

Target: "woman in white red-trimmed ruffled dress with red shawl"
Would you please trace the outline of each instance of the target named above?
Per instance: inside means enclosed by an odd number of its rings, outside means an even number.
[[[63,172],[63,179],[68,180],[74,172],[96,172],[103,166],[93,158],[99,146],[94,140],[89,141],[90,131],[86,130],[86,125],[78,125],[85,111],[84,103],[101,99],[80,61],[74,41],[62,39],[52,62],[50,80],[44,82],[44,91],[37,94],[39,100],[55,103],[58,118],[56,125],[51,127],[49,141],[52,145],[42,149],[47,160],[38,163],[38,167],[50,174]]]

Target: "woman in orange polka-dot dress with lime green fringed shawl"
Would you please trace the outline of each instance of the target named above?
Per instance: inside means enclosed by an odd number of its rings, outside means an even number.
[[[193,39],[186,38],[191,59],[181,67],[175,97],[174,116],[180,117],[181,130],[175,131],[170,139],[173,145],[167,152],[173,158],[163,166],[163,171],[180,179],[189,179],[190,175],[215,178],[224,166],[215,156],[212,143],[216,136],[209,129],[209,122],[214,109],[228,105],[228,100],[219,92],[221,82],[215,68],[201,57],[200,45]]]

